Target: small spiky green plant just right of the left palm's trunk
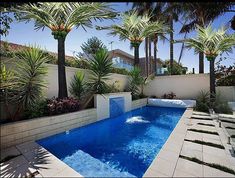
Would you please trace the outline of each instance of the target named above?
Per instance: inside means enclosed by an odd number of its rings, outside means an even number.
[[[85,81],[84,81],[84,73],[77,71],[73,76],[73,79],[70,83],[70,93],[76,98],[81,99],[82,95],[86,91],[85,89]]]

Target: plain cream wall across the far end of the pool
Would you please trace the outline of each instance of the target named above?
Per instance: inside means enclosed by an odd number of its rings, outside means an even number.
[[[201,90],[209,91],[209,74],[156,76],[145,86],[144,94],[161,97],[174,92],[180,99],[195,99]]]

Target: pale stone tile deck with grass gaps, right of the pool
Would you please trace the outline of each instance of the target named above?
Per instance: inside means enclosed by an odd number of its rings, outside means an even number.
[[[191,116],[197,119],[191,119]],[[200,120],[200,118],[206,120]],[[213,124],[215,126],[199,125],[198,123]],[[185,129],[185,127],[186,130],[184,132],[177,129]],[[213,131],[219,135],[188,131],[187,129],[189,128]],[[180,138],[177,141],[173,141],[179,133],[181,133],[183,139]],[[225,149],[193,143],[184,139],[220,144]],[[233,174],[179,158],[179,155],[197,158],[207,163],[220,164],[235,171],[235,156],[231,153],[231,145],[227,144],[227,137],[224,135],[222,128],[219,127],[219,123],[215,120],[210,120],[210,116],[206,113],[193,112],[190,109],[186,110],[143,177],[235,177]]]

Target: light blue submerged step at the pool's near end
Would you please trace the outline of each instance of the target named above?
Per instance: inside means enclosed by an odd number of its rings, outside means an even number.
[[[65,157],[62,161],[84,177],[135,177],[128,172],[113,169],[82,150]]]

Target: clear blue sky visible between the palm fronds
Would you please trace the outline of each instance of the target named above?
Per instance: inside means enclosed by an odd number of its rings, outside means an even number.
[[[110,3],[111,7],[113,7],[118,12],[124,12],[126,10],[131,9],[132,3]],[[222,25],[226,25],[229,20],[232,19],[234,13],[227,13],[213,22],[214,28],[219,28]],[[121,24],[121,20],[104,20],[102,22],[97,21],[93,23],[93,28],[86,28],[84,31],[83,28],[73,28],[73,30],[67,35],[65,42],[65,54],[73,56],[77,52],[82,52],[81,45],[87,41],[88,38],[93,36],[98,37],[107,47],[111,50],[110,42],[112,43],[112,49],[121,49],[129,54],[134,54],[134,50],[130,49],[130,42],[120,41],[118,36],[109,36],[107,30],[98,31],[95,29],[95,25],[99,26],[108,26],[111,24]],[[181,28],[181,23],[176,22],[174,24],[174,39],[183,39],[184,34],[179,34],[179,30]],[[46,49],[48,51],[57,52],[57,41],[51,35],[51,31],[48,28],[42,30],[34,30],[34,21],[30,21],[29,23],[25,22],[17,22],[14,21],[10,25],[11,29],[9,30],[9,34],[6,37],[2,37],[2,40],[17,43],[21,45],[39,45],[41,48]],[[230,28],[228,33],[232,34],[234,31]],[[190,32],[187,37],[195,37],[195,31]],[[169,38],[169,36],[168,36]],[[162,60],[169,59],[169,42],[159,41],[158,43],[158,53],[157,56]],[[179,54],[181,50],[181,44],[174,44],[174,59],[178,60]],[[144,42],[140,46],[140,57],[145,56],[144,50]],[[153,54],[153,52],[152,52]],[[221,64],[229,66],[235,63],[235,50],[233,53],[229,55],[224,54],[223,56],[227,57]],[[219,57],[217,57],[217,60]],[[183,56],[181,59],[183,66],[188,67],[188,71],[192,71],[192,68],[195,68],[195,72],[198,73],[198,55],[194,54],[193,49],[185,49],[183,52]],[[209,62],[205,60],[204,62],[204,71],[205,73],[209,72]]]

